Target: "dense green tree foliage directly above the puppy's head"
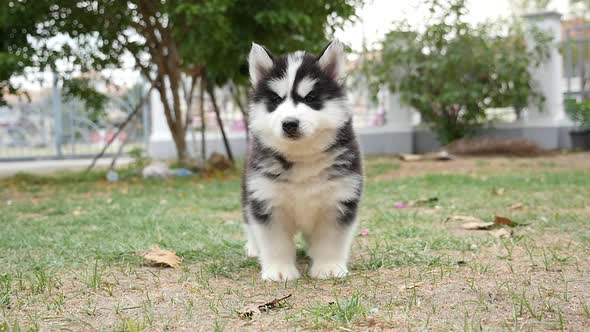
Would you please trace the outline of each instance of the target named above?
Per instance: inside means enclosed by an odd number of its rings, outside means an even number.
[[[326,31],[331,34],[351,19],[354,6],[360,3],[358,0],[181,1],[174,9],[174,19],[195,33],[187,35],[180,29],[175,33],[188,46],[180,49],[183,56],[206,64],[215,81],[232,79],[246,83],[246,59],[253,41],[277,53],[297,49],[320,51],[327,43]]]

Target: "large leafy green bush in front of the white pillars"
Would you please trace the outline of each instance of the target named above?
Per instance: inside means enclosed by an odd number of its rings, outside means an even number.
[[[386,84],[398,91],[443,143],[485,124],[488,108],[520,112],[528,100],[542,103],[528,68],[547,56],[544,33],[534,31],[539,46],[527,50],[516,25],[502,37],[491,24],[465,22],[464,0],[433,0],[430,11],[432,23],[424,31],[402,23],[387,34],[380,59],[368,66],[374,89]]]

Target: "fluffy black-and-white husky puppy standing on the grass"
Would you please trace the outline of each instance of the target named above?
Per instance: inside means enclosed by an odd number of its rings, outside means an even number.
[[[348,273],[363,187],[362,159],[343,88],[344,51],[273,56],[252,44],[251,137],[242,181],[246,253],[262,279],[294,280],[303,234],[312,278]]]

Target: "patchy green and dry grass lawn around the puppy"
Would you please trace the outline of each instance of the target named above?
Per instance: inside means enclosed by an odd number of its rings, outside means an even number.
[[[396,201],[437,197],[425,206]],[[518,204],[518,205],[515,205]],[[515,208],[516,207],[516,208]],[[0,180],[0,331],[587,330],[590,154],[367,161],[351,275],[262,282],[244,255],[239,174],[107,183]],[[512,237],[451,215],[509,217]],[[148,267],[153,245],[180,268]],[[309,260],[299,251],[304,271]],[[248,304],[292,294],[242,318]]]

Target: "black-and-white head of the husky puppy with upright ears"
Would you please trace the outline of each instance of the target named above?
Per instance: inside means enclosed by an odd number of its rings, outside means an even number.
[[[350,119],[339,42],[320,56],[298,51],[282,57],[252,44],[249,65],[254,87],[250,129],[264,144],[286,155],[317,153]]]

